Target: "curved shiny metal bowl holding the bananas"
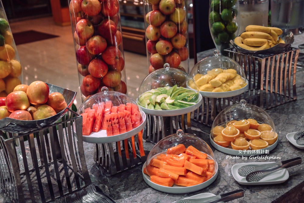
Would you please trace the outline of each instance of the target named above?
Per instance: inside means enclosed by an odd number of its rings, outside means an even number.
[[[295,37],[293,36],[292,32],[288,32],[283,35],[280,35],[280,37],[282,38],[282,40],[285,41],[285,44],[279,43],[271,48],[259,50],[259,51],[251,51],[251,50],[243,49],[240,46],[237,46],[237,44],[234,43],[233,40],[230,40],[230,43],[233,45],[233,47],[237,51],[239,51],[240,53],[244,53],[244,54],[254,54],[254,55],[277,54],[277,53],[283,53],[284,51],[286,51],[292,45],[293,41],[295,40]]]

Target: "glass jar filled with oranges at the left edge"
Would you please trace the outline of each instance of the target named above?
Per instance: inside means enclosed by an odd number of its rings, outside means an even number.
[[[0,97],[22,84],[22,67],[12,31],[0,1]]]

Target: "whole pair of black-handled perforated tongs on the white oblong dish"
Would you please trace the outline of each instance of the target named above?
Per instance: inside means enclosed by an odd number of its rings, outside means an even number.
[[[257,182],[257,181],[262,180],[265,176],[267,176],[275,171],[280,170],[281,168],[289,168],[289,167],[298,165],[300,163],[302,163],[302,158],[297,157],[297,158],[280,161],[280,162],[275,162],[275,163],[254,165],[254,166],[257,166],[259,168],[259,170],[254,170],[253,172],[247,174],[246,181],[247,182]],[[247,166],[250,166],[250,165],[247,165]],[[264,169],[263,169],[263,166],[264,166]],[[240,168],[242,168],[242,167],[240,167]],[[238,170],[238,173],[239,173],[239,170]],[[243,171],[243,170],[241,170],[241,171]]]

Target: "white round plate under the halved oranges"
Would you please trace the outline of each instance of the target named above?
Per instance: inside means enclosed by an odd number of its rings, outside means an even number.
[[[212,136],[210,134],[210,142],[211,145],[214,146],[214,148],[216,148],[218,151],[226,153],[226,154],[230,154],[230,155],[234,155],[234,156],[244,156],[244,157],[249,157],[249,156],[257,156],[257,155],[262,155],[265,154],[265,150],[269,150],[269,152],[273,149],[275,149],[275,147],[278,145],[278,140],[275,141],[275,143],[273,143],[272,145],[261,149],[261,150],[233,150],[230,146],[229,147],[222,147],[219,146],[218,144],[216,144],[213,139]]]

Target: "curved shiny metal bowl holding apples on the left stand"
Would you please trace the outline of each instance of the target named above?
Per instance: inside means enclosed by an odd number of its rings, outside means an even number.
[[[71,108],[76,97],[76,92],[58,87],[53,84],[47,85],[50,88],[50,93],[60,92],[64,96],[64,99],[67,102],[67,107],[64,110],[49,118],[33,121],[22,121],[7,117],[0,120],[0,130],[14,133],[29,132],[52,125],[62,116],[64,116],[64,114],[68,111],[68,108]]]

